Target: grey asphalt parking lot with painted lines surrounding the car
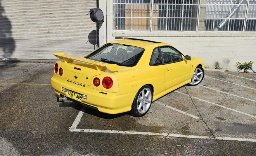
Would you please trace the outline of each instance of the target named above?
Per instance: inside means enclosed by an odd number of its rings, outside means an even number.
[[[0,63],[0,155],[256,155],[255,73],[205,71],[141,118],[57,103],[52,74]]]

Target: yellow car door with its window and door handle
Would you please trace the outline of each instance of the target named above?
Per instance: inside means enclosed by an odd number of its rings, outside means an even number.
[[[165,90],[185,83],[190,76],[190,62],[171,46],[160,47],[165,70]]]

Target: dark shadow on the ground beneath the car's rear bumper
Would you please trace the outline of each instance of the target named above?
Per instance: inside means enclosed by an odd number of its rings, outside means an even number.
[[[84,107],[84,106],[81,106],[81,105],[79,105],[75,102],[66,102],[66,103],[59,103],[59,107],[72,107],[72,108],[75,108],[75,109],[81,111],[81,108]],[[84,107],[84,108],[86,108],[84,110],[84,113],[96,116],[98,118],[108,119],[108,120],[119,118],[121,116],[124,116],[124,115],[128,114],[127,112],[119,113],[119,114],[107,114],[107,113],[102,113],[102,112],[100,112],[98,110],[95,110],[95,109],[91,109],[91,108],[87,108],[87,107]]]

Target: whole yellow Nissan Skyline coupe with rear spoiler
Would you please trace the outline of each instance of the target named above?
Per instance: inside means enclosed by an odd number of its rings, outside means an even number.
[[[156,99],[204,78],[203,60],[172,45],[128,38],[110,41],[85,57],[54,54],[51,85],[58,102],[73,101],[108,114],[145,115]]]

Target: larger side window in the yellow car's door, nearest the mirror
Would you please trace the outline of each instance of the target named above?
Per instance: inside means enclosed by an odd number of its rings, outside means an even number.
[[[164,63],[172,63],[182,61],[181,54],[172,47],[161,47]]]

